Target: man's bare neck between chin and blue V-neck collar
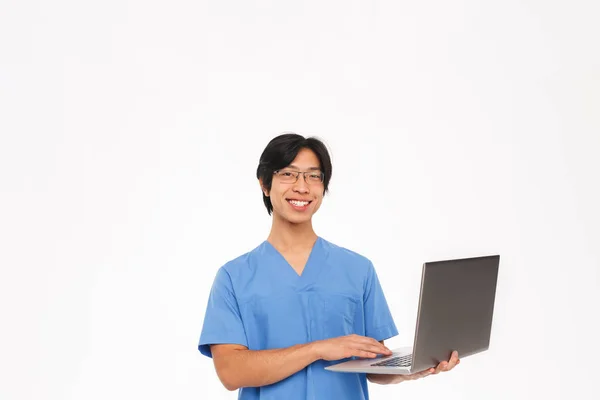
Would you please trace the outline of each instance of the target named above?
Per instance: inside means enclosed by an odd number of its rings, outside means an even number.
[[[311,248],[317,240],[312,221],[293,224],[273,214],[273,224],[267,241],[275,248],[295,250]]]

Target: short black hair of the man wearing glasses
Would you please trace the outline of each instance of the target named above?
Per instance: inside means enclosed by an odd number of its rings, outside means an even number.
[[[331,157],[325,144],[316,137],[305,138],[296,133],[285,133],[272,139],[260,156],[256,177],[262,180],[263,187],[270,191],[275,171],[290,165],[300,150],[312,150],[319,159],[323,172],[323,193],[327,193],[331,180]],[[273,212],[271,199],[263,192],[263,202],[269,215]]]

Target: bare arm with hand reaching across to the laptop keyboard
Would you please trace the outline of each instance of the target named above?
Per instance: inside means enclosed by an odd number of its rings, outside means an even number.
[[[321,359],[375,358],[378,354],[392,353],[376,340],[359,335],[319,340],[284,349],[248,350],[236,344],[216,344],[210,348],[217,375],[228,390],[271,385]]]

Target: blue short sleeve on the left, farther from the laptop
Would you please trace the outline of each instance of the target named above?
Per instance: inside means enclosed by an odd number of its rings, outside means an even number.
[[[208,298],[198,350],[212,357],[211,344],[239,344],[248,347],[244,324],[231,277],[220,268]]]

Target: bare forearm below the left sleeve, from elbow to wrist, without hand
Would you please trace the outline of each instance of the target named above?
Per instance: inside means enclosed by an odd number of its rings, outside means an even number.
[[[313,343],[273,350],[236,350],[220,361],[217,373],[229,390],[266,386],[295,374],[318,359]]]

